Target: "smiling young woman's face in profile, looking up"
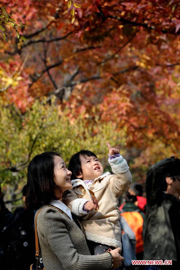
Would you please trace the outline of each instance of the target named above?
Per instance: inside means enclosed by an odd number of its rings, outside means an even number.
[[[54,156],[54,174],[56,184],[64,192],[65,190],[72,189],[71,175],[72,172],[66,169],[66,164],[59,156]]]

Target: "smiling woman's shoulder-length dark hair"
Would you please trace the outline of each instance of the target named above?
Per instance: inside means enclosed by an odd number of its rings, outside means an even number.
[[[35,156],[28,165],[26,208],[37,210],[52,199],[60,199],[63,192],[55,182],[54,156],[56,152],[44,152]],[[59,190],[62,196],[56,196],[55,190]]]

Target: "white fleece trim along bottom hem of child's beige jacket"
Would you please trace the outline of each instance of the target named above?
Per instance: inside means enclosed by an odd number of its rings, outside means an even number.
[[[105,244],[112,247],[122,247],[122,244],[120,241],[117,241],[115,239],[111,239],[102,235],[96,235],[96,234],[92,234],[86,231],[86,237],[88,240],[94,241],[99,244]]]

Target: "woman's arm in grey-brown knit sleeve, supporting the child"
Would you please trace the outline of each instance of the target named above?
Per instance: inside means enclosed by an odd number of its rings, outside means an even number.
[[[43,226],[43,224],[45,224]],[[78,230],[79,228],[77,228]],[[96,256],[81,255],[75,249],[69,232],[66,228],[63,219],[59,217],[59,213],[47,212],[43,217],[38,217],[38,237],[42,237],[43,242],[47,241],[47,247],[50,246],[53,253],[56,254],[64,269],[71,270],[105,270],[111,269],[111,256],[108,253]],[[75,233],[76,234],[76,233]],[[86,245],[86,240],[83,235],[83,240],[77,239],[82,244],[82,250]],[[76,235],[73,235],[76,238]],[[41,246],[41,251],[43,247]],[[42,251],[43,253],[43,251]]]

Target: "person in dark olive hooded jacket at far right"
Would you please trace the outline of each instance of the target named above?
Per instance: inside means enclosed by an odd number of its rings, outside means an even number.
[[[180,160],[164,158],[154,164],[146,178],[146,216],[144,221],[144,259],[172,260],[180,264]]]

